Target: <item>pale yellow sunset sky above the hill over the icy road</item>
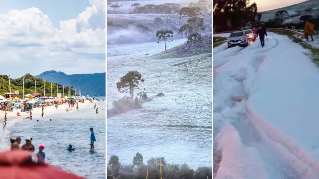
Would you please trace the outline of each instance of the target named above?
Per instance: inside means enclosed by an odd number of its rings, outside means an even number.
[[[307,0],[251,0],[251,3],[256,3],[257,7],[258,7],[258,11],[262,12],[262,11],[269,11],[269,10],[273,10],[273,9],[278,9],[278,8],[282,8],[282,7],[286,7],[286,6],[290,6],[293,4],[298,4],[301,2],[305,2]]]

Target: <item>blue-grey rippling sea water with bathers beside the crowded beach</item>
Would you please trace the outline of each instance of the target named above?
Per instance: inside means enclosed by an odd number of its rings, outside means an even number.
[[[99,99],[103,98],[99,97]],[[94,103],[99,107],[98,115],[95,114]],[[105,101],[94,101],[86,108],[81,108],[79,104],[78,111],[73,109],[70,112],[51,114],[48,117],[33,120],[11,121],[5,128],[5,141],[2,141],[1,145],[10,145],[10,137],[20,136],[22,144],[25,142],[24,138],[32,137],[35,152],[38,152],[39,145],[44,145],[46,161],[50,164],[88,179],[104,179],[106,174],[105,114]],[[36,119],[39,119],[39,122],[36,122]],[[49,121],[50,119],[52,122]],[[93,154],[89,152],[90,127],[93,127],[96,138],[94,143],[96,153]],[[74,152],[66,150],[69,144],[76,148]]]

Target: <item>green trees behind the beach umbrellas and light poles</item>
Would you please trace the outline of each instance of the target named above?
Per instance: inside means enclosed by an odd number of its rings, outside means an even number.
[[[27,73],[26,75],[16,78],[16,79],[11,79],[10,78],[10,86],[11,86],[11,92],[14,91],[19,91],[19,94],[17,97],[19,98],[24,98],[23,97],[23,77],[24,77],[24,83],[25,83],[25,95],[30,93],[34,93],[34,82],[36,80],[36,92],[41,93],[44,95],[44,83],[45,83],[45,91],[46,91],[46,96],[51,96],[51,82],[48,81],[43,81],[42,78],[36,78],[33,75]],[[52,83],[52,97],[56,97],[56,86],[58,86],[58,92],[63,93],[63,86],[58,84],[58,83]],[[67,96],[67,87],[64,86],[64,96]],[[9,76],[8,75],[0,75],[0,95],[4,95],[4,93],[10,92],[9,89]],[[73,89],[71,87],[71,94],[73,94]],[[62,94],[63,96],[63,94]]]

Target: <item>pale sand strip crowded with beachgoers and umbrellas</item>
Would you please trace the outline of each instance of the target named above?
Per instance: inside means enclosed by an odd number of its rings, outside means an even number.
[[[78,103],[78,106],[79,106],[79,110],[82,110],[82,109],[85,109],[89,106],[94,106],[94,101],[93,103],[90,103],[89,101],[85,101],[84,103]],[[56,109],[54,106],[47,106],[47,107],[44,107],[44,115],[43,117],[47,117],[49,114],[56,114],[56,113],[63,113],[63,112],[66,112],[66,108],[68,108],[68,110],[71,110],[71,111],[76,111],[76,105],[74,106],[74,108],[72,109],[71,107],[69,108],[69,104],[62,104],[62,105],[59,105],[58,109]],[[71,111],[68,111],[68,112],[71,112]],[[17,113],[20,113],[21,116],[17,116]],[[41,108],[33,108],[32,110],[32,118],[33,119],[39,119],[41,120],[41,113],[42,113],[42,110]],[[0,122],[3,123],[4,122],[4,115],[5,115],[5,111],[2,112],[0,111]],[[8,121],[11,121],[11,120],[23,120],[23,119],[28,119],[27,117],[30,117],[30,112],[21,112],[21,109],[13,109],[13,111],[7,111],[7,122]],[[30,119],[28,119],[30,120]],[[0,124],[1,124],[0,123]]]

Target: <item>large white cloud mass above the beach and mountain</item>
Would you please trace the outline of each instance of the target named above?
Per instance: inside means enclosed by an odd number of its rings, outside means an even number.
[[[57,28],[36,7],[0,14],[0,74],[105,72],[106,30],[89,23],[93,15],[105,14],[105,0],[89,3],[76,19],[60,21]]]

